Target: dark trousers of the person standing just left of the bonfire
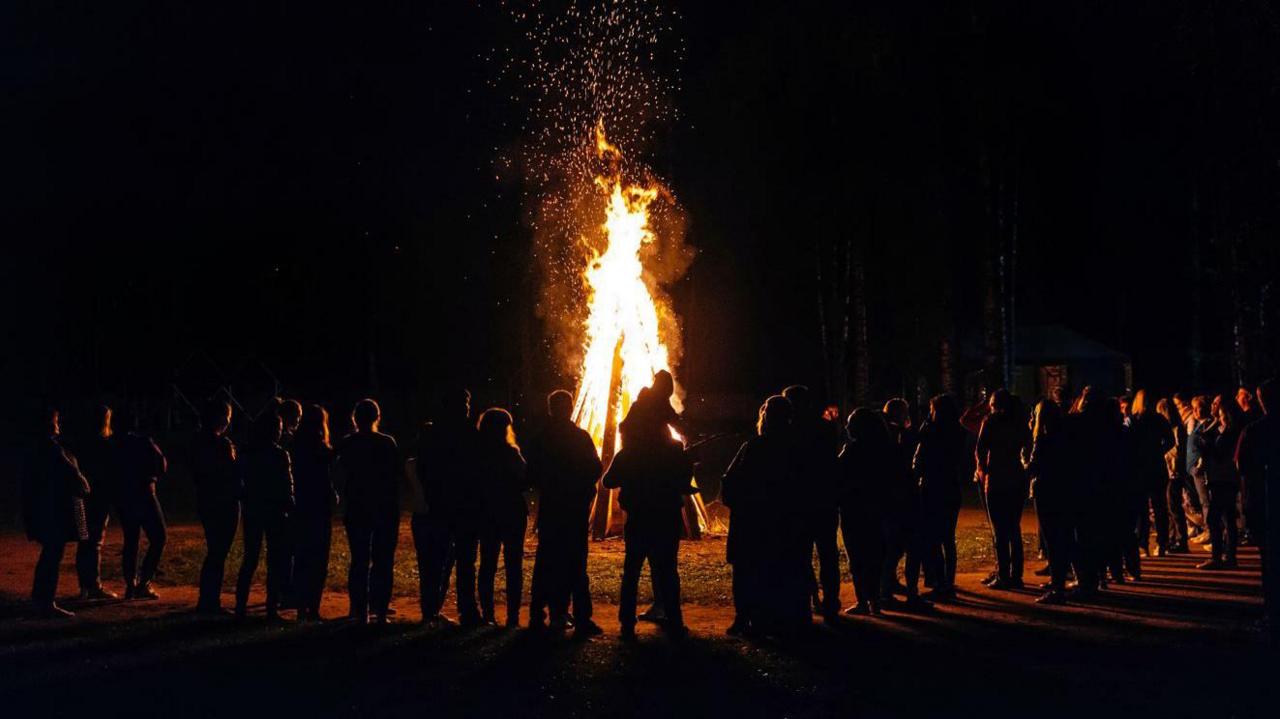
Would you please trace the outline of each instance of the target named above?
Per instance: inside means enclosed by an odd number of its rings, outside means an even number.
[[[530,620],[540,623],[544,610],[553,620],[566,617],[571,599],[573,620],[590,620],[586,532],[591,508],[589,504],[559,508],[544,502],[539,512]]]

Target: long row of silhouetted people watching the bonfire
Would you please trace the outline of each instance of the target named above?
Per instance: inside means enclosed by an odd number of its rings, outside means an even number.
[[[536,493],[527,623],[591,636],[600,628],[591,619],[588,527],[603,485],[618,490],[626,510],[622,636],[634,637],[644,617],[636,599],[645,562],[654,589],[646,614],[682,636],[681,513],[698,487],[678,439],[684,421],[671,404],[673,389],[671,375],[659,372],[640,393],[618,426],[621,449],[608,467],[573,423],[573,398],[564,390],[548,395],[541,431],[529,441],[517,441],[508,411],[489,408],[472,418],[466,390],[445,393],[407,449],[380,431],[372,399],[355,406],[351,432],[335,444],[323,407],[276,400],[252,423],[244,446],[230,439],[230,406],[212,402],[191,454],[207,546],[196,609],[224,613],[224,568],[239,530],[244,551],[233,614],[247,615],[265,548],[268,619],[280,620],[282,609],[296,609],[298,620],[320,619],[337,507],[351,557],[348,617],[385,623],[394,612],[407,480],[424,622],[454,622],[444,614],[452,583],[457,623],[497,623],[500,557],[503,620],[520,626],[527,498]],[[1231,569],[1236,548],[1248,541],[1263,557],[1271,617],[1276,582],[1267,516],[1276,512],[1280,418],[1266,412],[1280,406],[1276,391],[1274,381],[1215,398],[1156,399],[1142,390],[1105,397],[1084,388],[1074,398],[1053,391],[1028,406],[1001,389],[968,408],[952,395],[934,397],[919,423],[908,402],[892,399],[881,409],[854,409],[841,426],[808,388],[786,388],[763,403],[754,436],[723,476],[735,610],[727,631],[788,635],[810,626],[814,613],[835,622],[884,609],[927,612],[955,600],[956,526],[970,481],[979,485],[991,530],[996,567],[984,583],[992,590],[1025,586],[1021,519],[1033,499],[1047,560],[1037,572],[1044,577],[1039,603],[1087,601],[1110,583],[1140,581],[1144,555],[1187,553],[1196,544],[1210,549],[1199,569]],[[152,578],[165,545],[156,499],[164,454],[133,421],[118,434],[108,407],[70,438],[56,411],[45,418],[47,431],[23,482],[28,535],[42,546],[36,609],[72,615],[55,603],[59,564],[72,542],[81,597],[118,597],[100,577],[113,510],[124,536],[124,599],[155,599]],[[142,533],[148,548],[140,564]],[[837,535],[854,585],[847,608]]]

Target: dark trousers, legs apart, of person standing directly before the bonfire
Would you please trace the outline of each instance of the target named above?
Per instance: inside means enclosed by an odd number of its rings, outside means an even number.
[[[669,525],[669,526],[668,526]],[[627,516],[625,530],[626,551],[622,558],[622,591],[618,597],[618,622],[623,627],[636,623],[636,595],[640,592],[640,569],[649,560],[655,603],[667,615],[667,624],[682,627],[685,615],[680,608],[680,518],[650,523]]]

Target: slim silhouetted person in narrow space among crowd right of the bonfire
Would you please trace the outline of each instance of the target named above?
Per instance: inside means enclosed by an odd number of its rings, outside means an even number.
[[[884,422],[897,448],[893,482],[886,498],[884,512],[884,565],[881,569],[881,605],[892,606],[893,592],[905,590],[897,581],[897,565],[915,541],[919,514],[919,496],[911,459],[915,457],[918,435],[911,429],[911,412],[905,399],[893,398],[884,403]]]

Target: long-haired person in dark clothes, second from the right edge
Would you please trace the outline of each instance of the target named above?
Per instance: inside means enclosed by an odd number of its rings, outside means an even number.
[[[1239,544],[1236,526],[1236,500],[1240,496],[1240,472],[1235,466],[1235,450],[1244,429],[1240,407],[1225,398],[1213,403],[1217,425],[1203,446],[1206,485],[1208,486],[1208,530],[1213,558],[1202,562],[1201,569],[1235,568],[1235,549]]]

